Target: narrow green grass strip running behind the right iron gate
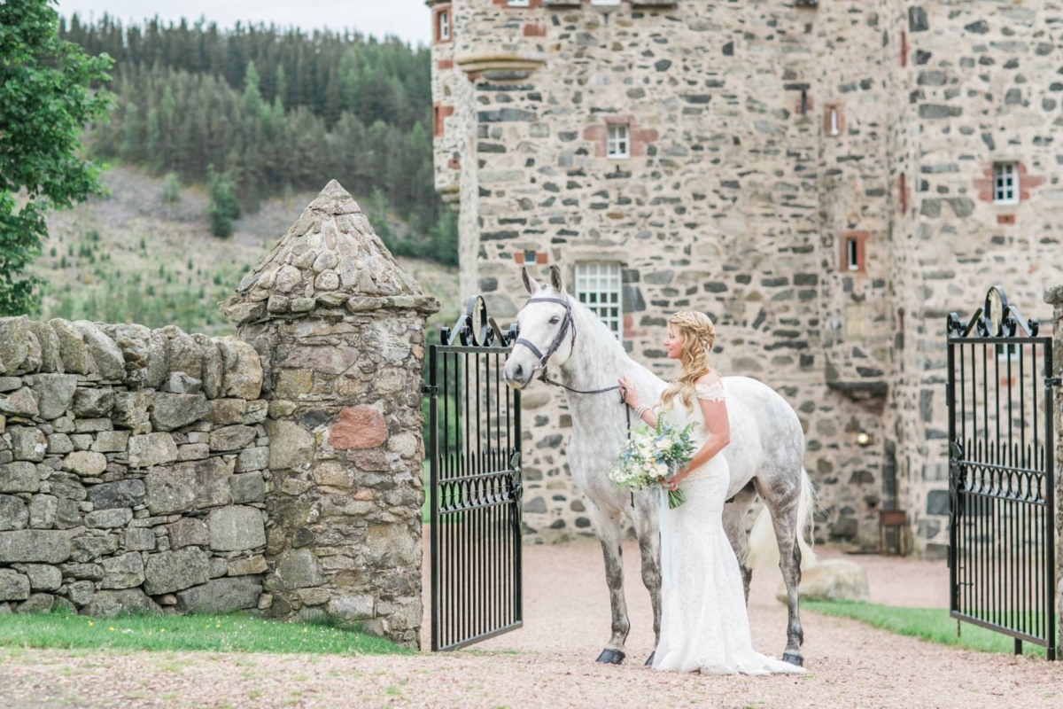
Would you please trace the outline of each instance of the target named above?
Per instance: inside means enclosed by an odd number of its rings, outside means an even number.
[[[948,610],[944,608],[902,608],[873,603],[820,601],[803,601],[800,607],[824,615],[849,618],[890,632],[940,645],[954,645],[982,653],[1015,652],[1015,641],[1010,636],[969,623],[962,623],[960,636],[957,637],[956,619],[950,618]],[[1024,643],[1023,652],[1026,655],[1044,656],[1045,648]]]

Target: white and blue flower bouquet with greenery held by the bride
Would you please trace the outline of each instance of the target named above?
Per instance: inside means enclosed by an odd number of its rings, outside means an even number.
[[[632,431],[617,457],[617,467],[609,473],[609,478],[618,486],[632,490],[663,487],[664,480],[694,456],[697,446],[690,439],[693,427],[691,423],[680,431],[664,421],[664,417],[658,417],[656,428]],[[675,509],[685,502],[687,497],[682,490],[669,490],[669,509]]]

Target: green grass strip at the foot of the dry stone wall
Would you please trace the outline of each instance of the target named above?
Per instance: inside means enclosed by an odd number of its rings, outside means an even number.
[[[0,615],[0,646],[118,651],[212,651],[406,655],[392,642],[324,623],[282,623],[250,615]]]

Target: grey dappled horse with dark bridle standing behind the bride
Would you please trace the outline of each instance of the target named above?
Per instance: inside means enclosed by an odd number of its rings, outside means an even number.
[[[642,580],[654,606],[655,646],[660,640],[658,494],[636,492],[632,506],[630,493],[609,479],[609,470],[627,436],[627,424],[618,392],[601,390],[617,389],[617,381],[626,375],[638,388],[640,399],[651,403],[660,401],[665,383],[628,357],[594,313],[569,298],[556,267],[551,268],[549,284],[539,284],[526,270],[522,276],[532,298],[517,316],[520,340],[506,360],[505,379],[510,387],[524,389],[537,375],[545,379],[549,367],[554,377],[552,384],[568,389],[566,396],[572,413],[569,467],[576,485],[587,495],[588,512],[602,542],[612,606],[612,636],[598,661],[619,663],[625,657],[624,642],[630,627],[620,550],[622,514],[629,516],[635,523],[642,556]],[[804,634],[797,586],[803,557],[807,562],[814,560],[805,541],[806,533],[811,537],[815,506],[812,484],[803,468],[805,435],[797,415],[770,387],[744,376],[724,377],[724,386],[730,444],[723,454],[731,475],[724,527],[741,560],[746,601],[753,569],[778,559],[790,611],[782,659],[799,665],[804,661],[800,652]],[[641,421],[635,424],[644,425]],[[764,511],[747,538],[744,519],[758,493],[764,501]],[[774,557],[776,546],[778,557]]]

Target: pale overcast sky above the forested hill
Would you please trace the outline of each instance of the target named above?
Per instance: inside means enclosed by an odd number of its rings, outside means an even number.
[[[104,13],[126,22],[158,15],[163,20],[201,15],[208,22],[229,28],[237,20],[265,22],[306,30],[349,28],[383,37],[396,35],[412,44],[427,45],[432,13],[424,0],[58,0],[58,11],[83,19]]]

